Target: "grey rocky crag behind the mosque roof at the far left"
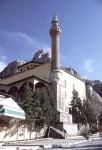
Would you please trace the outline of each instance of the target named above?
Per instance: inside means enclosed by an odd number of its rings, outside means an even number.
[[[11,63],[9,63],[2,72],[0,72],[0,78],[1,79],[4,79],[6,77],[9,77],[9,76],[12,76],[12,75],[15,75],[17,72],[18,72],[18,69],[17,67],[19,65],[22,65],[24,63],[26,63],[27,61],[25,60],[17,60],[17,61],[13,61]]]

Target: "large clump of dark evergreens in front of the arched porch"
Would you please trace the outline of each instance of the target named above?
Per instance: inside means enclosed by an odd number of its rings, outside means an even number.
[[[54,101],[54,98],[40,90],[33,94],[29,83],[26,83],[20,101],[20,106],[26,114],[26,123],[34,123],[36,127],[42,126],[44,123],[48,126],[52,125],[56,121],[57,115]]]

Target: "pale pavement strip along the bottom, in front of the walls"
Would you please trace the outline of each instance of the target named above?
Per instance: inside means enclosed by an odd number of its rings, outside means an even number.
[[[90,141],[100,140],[98,134],[94,134],[90,136],[88,140],[86,140],[82,136],[72,136],[67,139],[36,139],[36,140],[28,140],[28,141],[19,141],[18,143],[5,143],[2,144],[0,150],[39,150],[39,149],[50,149],[50,148],[70,148],[80,143],[87,143]]]

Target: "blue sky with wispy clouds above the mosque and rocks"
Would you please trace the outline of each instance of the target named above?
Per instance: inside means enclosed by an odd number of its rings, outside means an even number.
[[[0,0],[0,70],[34,52],[50,51],[54,13],[60,20],[61,65],[102,80],[101,0]]]

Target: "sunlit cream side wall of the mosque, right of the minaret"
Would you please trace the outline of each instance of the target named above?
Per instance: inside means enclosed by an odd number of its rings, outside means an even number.
[[[73,96],[72,91],[74,89],[78,91],[81,100],[86,99],[85,82],[61,70],[60,77],[57,82],[57,109],[59,111],[69,111],[68,107],[70,107],[70,102]]]

